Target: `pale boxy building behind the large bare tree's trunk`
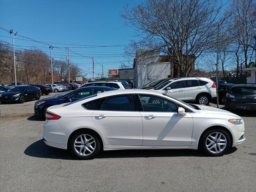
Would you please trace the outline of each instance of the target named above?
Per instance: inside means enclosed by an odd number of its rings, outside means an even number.
[[[143,86],[154,80],[168,78],[170,75],[170,62],[160,59],[159,50],[139,50],[134,59],[135,87]]]

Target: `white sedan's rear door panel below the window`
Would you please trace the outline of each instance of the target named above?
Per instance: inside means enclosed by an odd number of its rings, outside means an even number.
[[[142,118],[136,111],[94,111],[92,120],[112,146],[142,145]]]

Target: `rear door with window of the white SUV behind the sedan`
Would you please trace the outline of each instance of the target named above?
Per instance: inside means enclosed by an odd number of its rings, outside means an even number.
[[[198,80],[185,80],[184,100],[196,100],[196,96],[205,90]]]

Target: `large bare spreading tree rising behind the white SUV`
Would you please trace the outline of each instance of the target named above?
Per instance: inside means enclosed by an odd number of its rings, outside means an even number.
[[[221,8],[217,0],[147,0],[132,9],[127,5],[122,18],[141,38],[135,49],[168,53],[186,77],[192,72],[190,55],[196,59],[215,46]]]

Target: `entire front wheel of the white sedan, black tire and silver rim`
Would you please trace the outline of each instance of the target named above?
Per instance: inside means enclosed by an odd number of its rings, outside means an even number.
[[[200,140],[201,150],[210,156],[221,156],[230,148],[231,140],[226,131],[214,129],[206,132]]]

